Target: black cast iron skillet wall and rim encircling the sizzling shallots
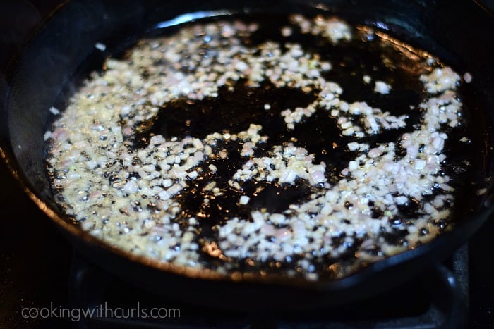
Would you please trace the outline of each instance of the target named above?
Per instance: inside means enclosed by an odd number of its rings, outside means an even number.
[[[494,171],[492,134],[494,111],[494,20],[473,1],[248,0],[248,1],[68,1],[25,46],[1,85],[2,152],[13,175],[31,199],[71,240],[80,253],[135,285],[188,302],[234,309],[290,309],[342,304],[394,287],[450,256],[494,209],[494,187],[486,180]],[[159,22],[187,13],[228,9],[241,12],[328,12],[352,23],[366,23],[425,49],[468,71],[471,115],[479,123],[481,147],[476,171],[469,177],[471,193],[462,201],[462,221],[433,242],[374,263],[340,280],[260,277],[236,273],[221,278],[211,271],[158,263],[114,249],[95,240],[64,216],[54,203],[44,166],[43,135],[53,120],[48,109],[76,73],[101,62],[95,42],[121,50]],[[176,22],[176,20],[175,20]],[[89,63],[89,64],[88,64]],[[486,187],[477,196],[474,191]]]

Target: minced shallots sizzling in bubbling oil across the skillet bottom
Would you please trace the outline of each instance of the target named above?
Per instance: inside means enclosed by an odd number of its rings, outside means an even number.
[[[425,51],[258,15],[185,24],[104,67],[46,137],[61,206],[109,244],[333,279],[454,223],[473,152],[462,79]]]

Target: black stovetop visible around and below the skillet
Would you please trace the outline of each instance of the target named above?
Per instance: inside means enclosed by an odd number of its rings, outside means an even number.
[[[17,49],[18,44],[23,42],[25,36],[28,35],[28,30],[39,23],[59,2],[61,1],[0,0],[0,68],[4,68],[8,58],[7,54]],[[126,283],[114,280],[84,259],[80,259],[77,255],[74,256],[71,244],[61,237],[49,218],[25,196],[1,161],[0,187],[0,328],[71,328],[73,325],[76,326],[75,328],[85,328],[83,325],[90,325],[90,323],[73,323],[70,316],[43,318],[49,314],[38,314],[37,317],[29,317],[26,311],[71,309],[76,306],[95,307],[104,302],[113,303],[112,307],[135,306],[137,302],[142,302],[143,305],[154,303],[169,308],[180,308],[181,318],[185,318],[188,322],[184,323],[176,319],[162,321],[165,325],[169,325],[167,328],[189,328],[191,325],[201,326],[200,328],[234,328],[234,326],[266,328],[267,325],[270,328],[308,328],[308,323],[315,325],[311,328],[327,328],[328,325],[341,325],[338,319],[328,319],[310,312],[300,316],[272,316],[269,323],[263,323],[261,317],[253,320],[250,314],[226,311],[223,314],[220,312],[219,316],[215,317],[210,315],[211,310],[183,305],[179,301],[160,299],[132,287],[130,289],[126,287],[125,291],[128,293],[122,294],[119,287]],[[451,268],[455,275],[461,277],[454,278],[454,280],[461,282],[462,277],[468,275],[466,278],[468,278],[469,288],[465,291],[468,292],[468,303],[467,307],[460,307],[459,311],[466,312],[466,309],[469,309],[469,314],[465,317],[469,328],[494,328],[493,235],[494,218],[491,218],[474,235],[468,247],[463,247],[462,251],[467,251],[469,259],[466,268],[458,270],[451,263],[445,262],[446,267]],[[463,260],[465,256],[461,252],[455,255],[456,258]],[[426,277],[434,277],[438,274],[437,271],[439,270],[426,273]],[[85,273],[85,276],[81,276],[81,273]],[[94,282],[98,289],[104,287],[106,294],[78,294],[78,292],[87,290],[88,282]],[[403,294],[409,294],[412,299],[416,299],[421,294],[420,289],[427,289],[427,285],[430,285],[430,282],[423,285],[423,279],[418,278],[399,289]],[[465,289],[466,286],[464,285],[463,288]],[[364,318],[365,320],[365,309],[372,307],[372,304],[390,303],[387,304],[389,308],[392,305],[390,300],[395,298],[394,293],[396,292],[377,296],[375,299],[355,305],[355,319]],[[450,302],[447,300],[450,299],[450,292],[445,292],[444,299],[445,302]],[[464,301],[466,302],[466,299]],[[442,304],[440,300],[433,301],[433,303]],[[430,301],[408,304],[402,302],[402,306],[402,309],[406,311],[397,307],[395,309],[397,313],[392,316],[393,318],[421,316],[419,320],[426,321],[427,316],[430,315],[428,313]],[[344,317],[345,312],[351,314],[351,311],[352,309],[348,307],[343,308],[341,314]],[[335,310],[332,313],[328,310],[321,312],[335,314]],[[457,314],[457,316],[462,318],[464,314]],[[122,323],[110,322],[96,323],[95,327],[90,328],[123,328]],[[365,328],[366,325],[362,323],[361,328]],[[392,325],[390,321],[382,319],[373,324],[379,323]],[[430,323],[422,322],[421,325],[420,328],[423,328]],[[396,327],[397,323],[394,323],[394,326]],[[402,326],[406,326],[406,322],[402,322]],[[135,326],[131,324],[125,328],[135,328]]]

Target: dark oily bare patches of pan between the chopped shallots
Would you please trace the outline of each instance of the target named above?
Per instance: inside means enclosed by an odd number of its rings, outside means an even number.
[[[416,130],[420,125],[421,113],[418,104],[426,98],[423,85],[418,77],[421,73],[430,70],[425,65],[424,58],[420,56],[408,56],[404,49],[382,40],[377,36],[373,39],[363,41],[356,35],[351,42],[340,42],[337,46],[327,42],[320,37],[303,35],[294,28],[290,37],[283,37],[280,29],[289,25],[287,18],[282,16],[255,16],[243,17],[242,19],[253,20],[259,24],[258,32],[248,39],[243,40],[248,45],[255,45],[272,40],[283,44],[284,42],[299,43],[306,51],[317,53],[322,60],[332,63],[332,70],[325,73],[325,79],[337,82],[344,90],[341,99],[351,103],[353,101],[366,101],[375,108],[389,111],[392,115],[406,114],[406,128],[383,131],[378,135],[356,139],[355,137],[344,137],[337,128],[335,118],[329,116],[325,109],[318,111],[311,118],[304,119],[297,124],[294,130],[287,130],[286,124],[280,112],[286,108],[294,109],[298,106],[305,107],[315,100],[317,90],[305,94],[299,89],[287,87],[277,88],[270,82],[263,83],[260,87],[247,87],[243,80],[237,82],[234,91],[227,88],[219,89],[219,96],[206,98],[201,101],[190,101],[186,98],[165,104],[159,111],[157,118],[143,124],[137,135],[128,142],[132,147],[139,149],[147,147],[147,141],[152,135],[163,135],[164,137],[198,137],[204,138],[213,132],[238,133],[248,129],[251,123],[262,125],[260,135],[268,137],[267,142],[258,144],[255,156],[267,156],[276,145],[292,142],[298,147],[304,147],[309,154],[315,155],[315,163],[324,161],[326,164],[326,175],[331,183],[335,183],[342,177],[339,175],[348,162],[355,157],[354,153],[347,150],[349,142],[366,142],[370,147],[387,142],[397,142],[404,132]],[[386,58],[386,61],[383,59]],[[373,81],[366,85],[363,76],[370,75]],[[145,77],[145,74],[143,75]],[[383,80],[392,85],[390,94],[377,94],[373,92],[375,80]],[[270,110],[264,109],[264,104],[270,104]],[[410,108],[412,106],[413,109]],[[468,114],[464,117],[468,120]],[[478,139],[467,133],[465,126],[450,129],[449,138],[446,142],[446,154],[448,156],[444,174],[454,178],[453,185],[458,191],[462,191],[465,173],[471,167],[464,165],[464,160],[474,159],[476,147],[471,144],[459,142],[461,137],[469,137],[474,142]],[[246,162],[246,158],[240,156],[241,143],[238,141],[219,141],[215,149],[227,149],[228,158],[207,159],[201,164],[207,168],[210,164],[217,167],[217,173],[212,175],[204,170],[197,180],[188,182],[188,187],[177,197],[181,204],[182,213],[176,219],[179,223],[186,225],[186,219],[195,216],[200,220],[200,244],[217,240],[215,226],[224,223],[229,218],[251,218],[251,211],[265,209],[270,212],[282,212],[289,204],[300,204],[307,201],[310,195],[318,192],[318,187],[311,187],[304,180],[296,181],[295,185],[280,185],[270,182],[240,182],[241,191],[229,187],[228,180]],[[398,151],[397,156],[404,156],[404,152]],[[212,192],[205,192],[204,187],[215,180],[222,196],[214,196]],[[239,204],[241,195],[251,197],[248,205]],[[209,202],[205,202],[205,198]],[[416,216],[420,205],[413,200],[404,206],[400,206],[399,216],[392,218],[393,224],[399,227],[406,225]],[[375,211],[375,218],[383,216]],[[445,223],[438,223],[445,225]],[[447,225],[447,224],[446,224]],[[382,233],[385,240],[394,244],[406,244],[404,236],[406,229],[397,229],[394,234]],[[365,237],[356,238],[353,245],[348,246],[348,252],[340,259],[319,259],[315,262],[314,271],[323,275],[332,276],[328,265],[336,262],[346,263],[355,260],[355,251],[359,249]],[[340,239],[333,239],[335,245],[344,243],[344,235]],[[371,246],[371,254],[378,254],[378,246]],[[292,268],[291,263],[295,259],[303,258],[303,255],[293,256],[286,262],[277,263],[254,263],[248,260],[231,262],[227,264],[230,268],[238,268],[243,271],[260,271],[268,268],[275,273],[284,273],[287,268]],[[203,261],[208,266],[215,267],[224,264],[224,260],[212,259],[206,253]]]

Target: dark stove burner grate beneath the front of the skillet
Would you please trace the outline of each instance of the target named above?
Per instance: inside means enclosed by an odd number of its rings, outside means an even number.
[[[92,311],[74,328],[464,328],[469,303],[468,249],[388,292],[337,307],[283,314],[195,306],[133,287],[79,254],[69,304]],[[166,283],[163,283],[166,285]],[[151,318],[151,309],[161,309]],[[133,310],[133,311],[132,311]],[[143,311],[144,310],[144,311]],[[131,312],[134,312],[131,314]],[[133,316],[132,316],[133,315]],[[147,317],[146,317],[146,316]]]

